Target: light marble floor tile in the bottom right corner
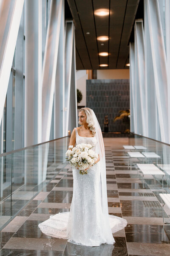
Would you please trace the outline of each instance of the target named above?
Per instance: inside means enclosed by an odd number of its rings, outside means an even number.
[[[129,255],[169,256],[170,244],[127,243]]]

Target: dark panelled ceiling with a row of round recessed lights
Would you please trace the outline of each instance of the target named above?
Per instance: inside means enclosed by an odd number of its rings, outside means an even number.
[[[77,70],[128,68],[129,40],[139,0],[68,0],[75,25]],[[109,9],[108,16],[94,15],[96,9]],[[87,34],[89,32],[89,34]],[[98,41],[107,35],[108,41]],[[104,45],[101,45],[104,44]],[[106,57],[99,52],[109,52]]]

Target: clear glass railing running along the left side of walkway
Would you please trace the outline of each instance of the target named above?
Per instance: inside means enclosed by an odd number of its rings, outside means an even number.
[[[0,230],[66,165],[69,140],[63,137],[0,154]]]

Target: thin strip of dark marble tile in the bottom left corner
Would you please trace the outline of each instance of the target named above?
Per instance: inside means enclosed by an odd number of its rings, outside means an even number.
[[[0,256],[62,256],[60,251],[2,249]]]

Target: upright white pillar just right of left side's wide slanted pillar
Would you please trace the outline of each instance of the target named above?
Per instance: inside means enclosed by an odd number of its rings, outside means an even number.
[[[65,71],[65,17],[64,1],[62,2],[62,17],[59,34],[59,48],[54,91],[54,139],[63,137],[63,109],[64,109],[64,71]],[[54,144],[55,145],[55,144]]]

